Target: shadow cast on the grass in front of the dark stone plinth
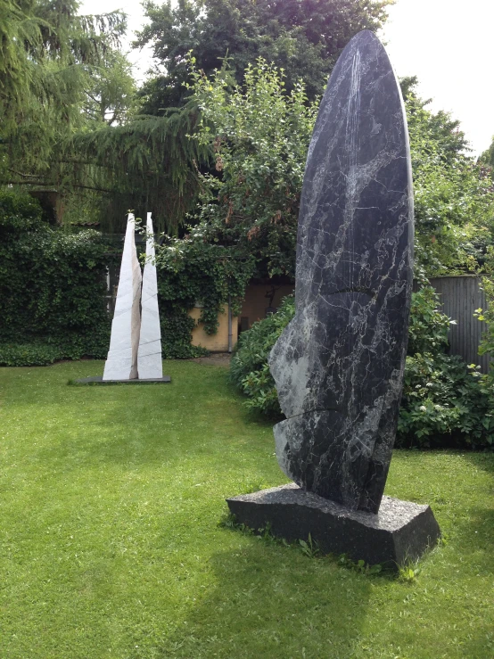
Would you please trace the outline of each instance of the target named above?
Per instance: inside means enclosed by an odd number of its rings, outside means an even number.
[[[255,537],[214,554],[210,566],[216,587],[193,603],[160,659],[319,659],[322,648],[334,659],[352,655],[366,621],[368,577]]]

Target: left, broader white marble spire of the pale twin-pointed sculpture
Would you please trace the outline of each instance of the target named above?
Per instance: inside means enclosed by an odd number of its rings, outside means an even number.
[[[119,290],[111,323],[104,380],[134,380],[137,375],[137,349],[141,329],[141,267],[137,259],[135,218],[128,214],[127,232],[120,266]]]

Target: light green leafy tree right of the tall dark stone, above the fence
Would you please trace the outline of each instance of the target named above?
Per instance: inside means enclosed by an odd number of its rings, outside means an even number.
[[[426,276],[482,268],[493,226],[492,181],[468,155],[459,122],[427,109],[416,78],[402,81],[414,176],[416,266]]]

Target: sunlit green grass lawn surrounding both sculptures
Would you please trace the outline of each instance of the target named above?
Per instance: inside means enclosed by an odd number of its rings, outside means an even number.
[[[386,492],[446,536],[416,581],[218,526],[286,482],[226,368],[67,386],[103,362],[0,369],[1,659],[494,657],[494,456],[396,451]]]

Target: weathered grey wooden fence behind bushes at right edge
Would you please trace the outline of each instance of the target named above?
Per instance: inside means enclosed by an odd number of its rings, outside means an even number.
[[[481,289],[481,280],[477,276],[442,276],[433,277],[431,284],[439,293],[441,311],[456,325],[449,325],[449,344],[451,354],[460,355],[467,364],[482,367],[482,373],[489,371],[490,357],[478,354],[482,333],[487,326],[473,317],[475,309],[485,309],[485,294]]]

